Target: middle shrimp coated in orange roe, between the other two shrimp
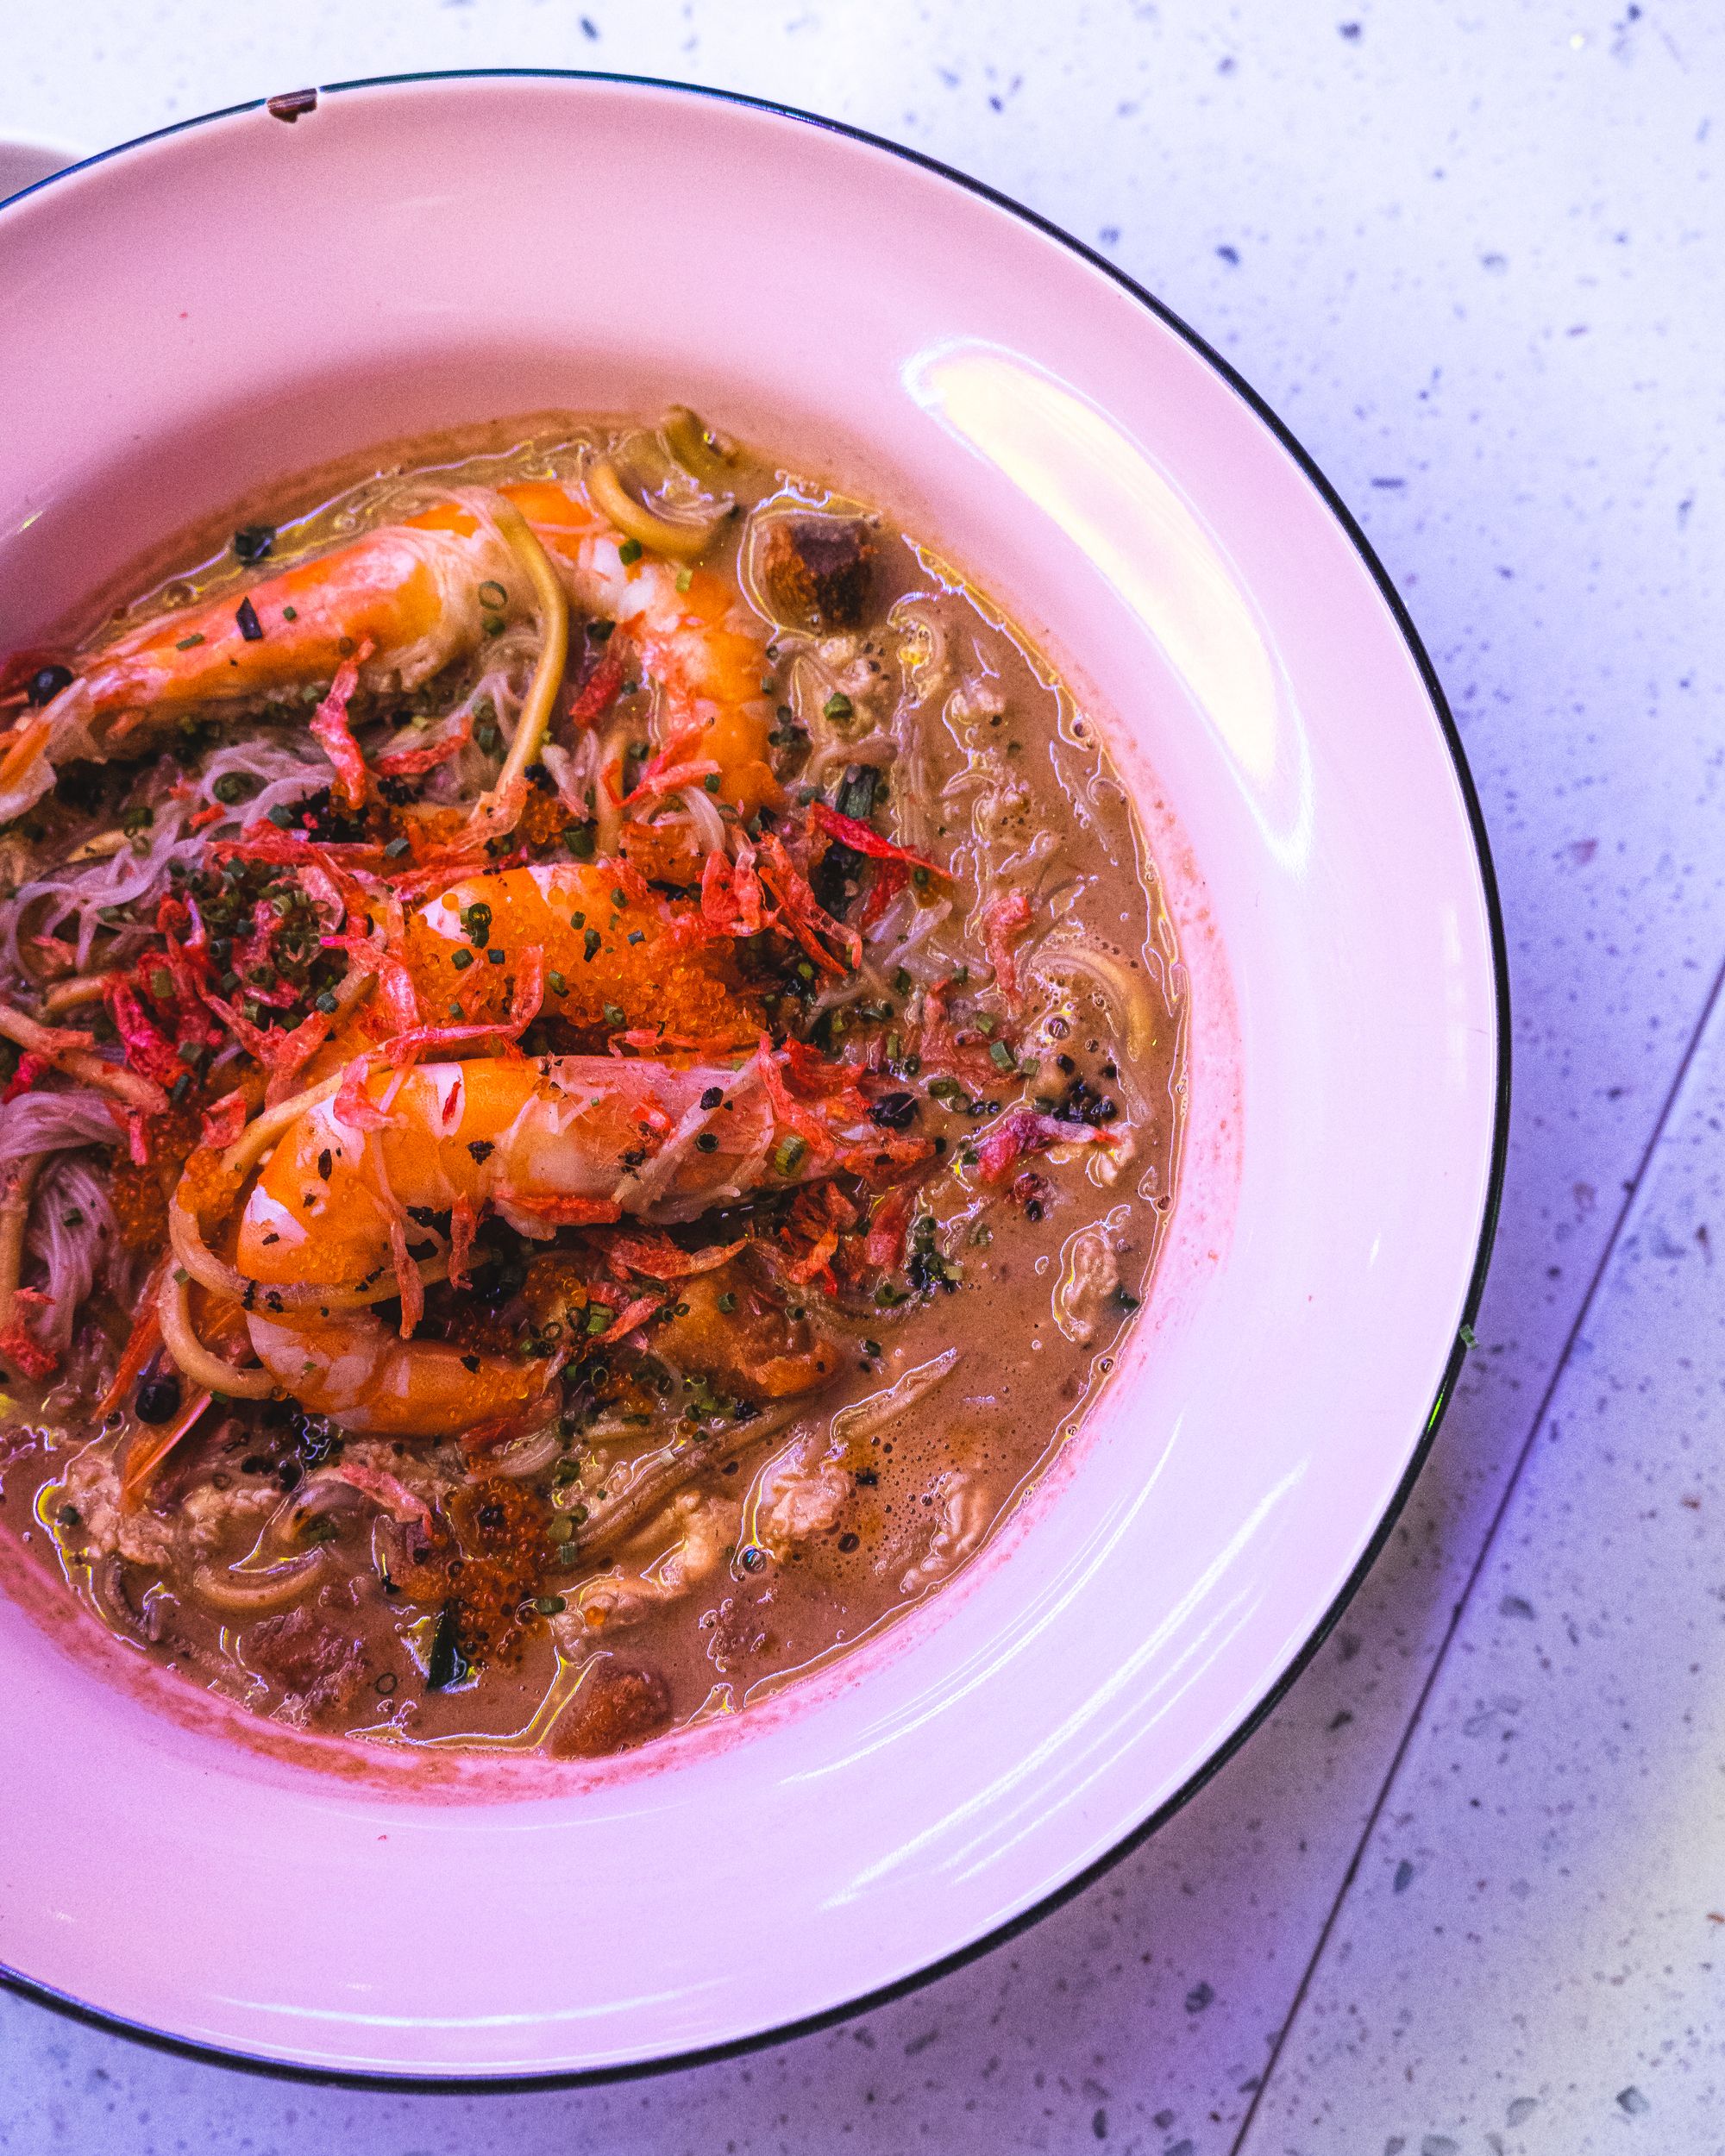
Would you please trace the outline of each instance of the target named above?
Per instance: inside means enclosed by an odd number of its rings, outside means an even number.
[[[597,1033],[653,1026],[750,1046],[757,998],[729,944],[679,934],[658,897],[634,888],[630,897],[617,862],[539,862],[466,877],[420,906],[408,918],[408,968],[429,1022],[457,1003],[468,1020],[505,1018],[513,962],[539,944],[546,1015]]]

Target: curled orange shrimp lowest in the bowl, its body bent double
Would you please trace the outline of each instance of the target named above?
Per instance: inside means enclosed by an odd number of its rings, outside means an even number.
[[[302,1408],[375,1436],[448,1436],[528,1408],[552,1376],[543,1358],[397,1339],[367,1311],[274,1311],[270,1289],[375,1281],[386,1296],[395,1268],[408,1335],[423,1300],[412,1250],[436,1244],[440,1214],[459,1272],[487,1205],[539,1238],[625,1214],[692,1220],[880,1141],[850,1110],[789,1104],[776,1076],[765,1052],[740,1069],[513,1056],[373,1074],[364,1110],[336,1093],[282,1132],[246,1201],[252,1350]],[[386,1121],[356,1130],[343,1112]]]

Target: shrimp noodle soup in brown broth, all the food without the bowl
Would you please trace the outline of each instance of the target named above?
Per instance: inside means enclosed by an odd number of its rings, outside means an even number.
[[[688,412],[390,444],[119,597],[0,677],[4,1531],[259,1714],[567,1755],[951,1578],[1179,1156],[1024,636]]]

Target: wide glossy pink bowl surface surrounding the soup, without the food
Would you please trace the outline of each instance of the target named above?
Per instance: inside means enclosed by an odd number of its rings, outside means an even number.
[[[302,101],[304,103],[304,101]],[[1361,535],[1248,390],[1013,205],[649,82],[326,91],[0,211],[0,621],[272,474],[699,405],[897,509],[1108,731],[1190,975],[1145,1322],[944,1593],[597,1766],[345,1753],[0,1600],[0,1951],[250,2059],[597,2074],[806,2027],[1024,1923],[1335,1617],[1455,1376],[1505,1037],[1479,817]]]

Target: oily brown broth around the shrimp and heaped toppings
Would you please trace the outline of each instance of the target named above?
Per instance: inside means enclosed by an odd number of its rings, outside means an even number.
[[[408,479],[436,489],[565,476],[595,444],[623,436],[558,418],[395,444],[362,464],[285,483],[242,505],[222,530],[276,524],[274,569],[386,522]],[[630,440],[649,476],[664,476],[668,468],[643,451],[647,438]],[[871,946],[899,1026],[845,1022],[828,1048],[882,1039],[882,1054],[897,1046],[903,1067],[903,1013],[916,990],[906,996],[906,975],[893,964],[899,953],[919,983],[968,966],[972,979],[960,975],[955,1007],[970,998],[972,1020],[1013,1037],[1009,1063],[1035,1059],[1037,1076],[1020,1082],[1009,1067],[998,1091],[972,1080],[977,1112],[964,1093],[932,1097],[921,1072],[906,1076],[921,1100],[921,1128],[949,1147],[925,1184],[934,1227],[923,1235],[923,1285],[899,1276],[906,1300],[845,1311],[834,1326],[841,1369],[830,1388],[789,1421],[763,1404],[765,1434],[744,1423],[714,1440],[712,1464],[688,1479],[679,1501],[656,1507],[593,1567],[558,1565],[561,1546],[548,1537],[565,1531],[580,1505],[591,1516],[599,1492],[615,1494],[643,1460],[660,1455],[671,1429],[664,1419],[643,1427],[602,1412],[561,1436],[541,1470],[509,1481],[507,1505],[496,1498],[492,1507],[515,1507],[526,1522],[533,1578],[524,1585],[511,1574],[511,1591],[537,1595],[539,1606],[520,1621],[500,1619],[509,1641],[489,1658],[461,1647],[472,1669],[436,1688],[429,1675],[451,1675],[446,1654],[442,1667],[436,1662],[440,1608],[392,1593],[399,1583],[380,1576],[412,1565],[414,1531],[388,1529],[364,1503],[330,1514],[323,1576],[302,1604],[246,1619],[201,1598],[183,1526],[175,1526],[188,1518],[188,1501],[211,1522],[198,1561],[220,1572],[267,1535],[289,1485],[319,1473],[304,1434],[289,1442],[280,1427],[265,1429],[259,1410],[235,1404],[205,1416],[144,1507],[121,1524],[112,1511],[116,1462],[138,1440],[138,1425],[121,1416],[93,1432],[80,1421],[125,1335],[123,1313],[97,1298],[71,1373],[47,1393],[15,1388],[15,1425],[0,1432],[0,1522],[142,1654],[257,1712],[390,1742],[552,1751],[608,1751],[733,1714],[880,1632],[988,1542],[1076,1429],[1149,1294],[1179,1160],[1184,975],[1154,862],[1093,716],[983,593],[878,509],[753,455],[740,455],[727,487],[742,513],[703,565],[740,580],[755,599],[761,584],[748,569],[750,535],[763,517],[783,509],[865,517],[873,533],[865,627],[776,634],[774,679],[794,714],[787,724],[809,737],[806,748],[794,740],[781,752],[791,802],[800,785],[815,778],[828,789],[858,752],[867,761],[880,735],[895,733],[878,821],[953,869],[953,903],[938,925],[927,923],[940,906],[936,890],[912,888],[899,901],[899,942],[886,953]],[[211,530],[188,535],[172,561],[157,558],[134,582],[134,591],[147,586],[134,619],[250,578],[231,552],[216,550]],[[826,716],[834,696],[850,701],[837,720]],[[647,692],[634,703],[645,724]],[[63,852],[75,837],[75,821],[50,832],[45,852]],[[1020,944],[1022,1018],[990,981],[977,923],[985,893],[1011,888],[1035,908]],[[923,938],[906,949],[912,927]],[[1113,962],[1126,994],[1108,990],[1106,972],[1057,962],[1087,951]],[[938,964],[934,953],[944,953]],[[867,992],[860,1000],[871,1003]],[[981,1039],[972,1046],[988,1052]],[[1048,1102],[1074,1080],[1115,1104],[1108,1143],[1026,1158],[1035,1181],[1016,1197],[983,1188],[966,1164],[975,1141],[1016,1102]],[[819,1287],[809,1289],[811,1302],[819,1296]],[[867,1404],[895,1384],[914,1386],[916,1373],[944,1356],[951,1367],[921,1401],[869,1425]],[[858,1419],[860,1434],[845,1438]],[[321,1442],[313,1434],[313,1455]],[[794,1531],[796,1505],[774,1509],[787,1473],[772,1464],[794,1449],[804,1531]],[[423,1483],[427,1464],[446,1485],[466,1477],[453,1440],[347,1440],[334,1457],[395,1470],[408,1483]],[[505,1529],[498,1535],[507,1539]],[[701,1537],[714,1544],[705,1570],[690,1557]],[[681,1587],[679,1565],[692,1574]],[[595,1589],[599,1576],[610,1585]],[[341,1656],[330,1639],[343,1645]]]

